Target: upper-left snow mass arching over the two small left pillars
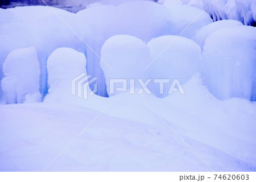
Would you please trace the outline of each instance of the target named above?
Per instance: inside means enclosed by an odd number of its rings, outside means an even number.
[[[3,17],[11,16],[11,19],[10,23],[0,26],[0,79],[3,77],[3,60],[8,53],[20,47],[33,46],[38,53],[40,92],[44,95],[47,93],[46,60],[52,51],[59,47],[84,48],[81,40],[52,10],[69,26],[75,27],[75,14],[54,7],[49,9],[46,6],[26,6],[6,10]]]

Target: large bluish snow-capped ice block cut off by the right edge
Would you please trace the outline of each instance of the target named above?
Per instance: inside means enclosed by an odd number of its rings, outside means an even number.
[[[256,30],[254,27],[222,28],[205,41],[204,79],[209,91],[224,100],[255,100]]]

